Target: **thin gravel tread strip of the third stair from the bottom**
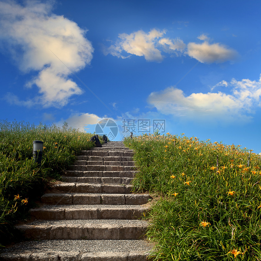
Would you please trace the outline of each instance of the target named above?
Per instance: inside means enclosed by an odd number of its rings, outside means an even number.
[[[70,209],[70,208],[144,208],[140,205],[41,205],[39,208]],[[33,208],[35,209],[35,208]]]

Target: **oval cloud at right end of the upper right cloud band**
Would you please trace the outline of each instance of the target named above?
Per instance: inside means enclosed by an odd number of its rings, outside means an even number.
[[[203,43],[188,43],[187,54],[201,63],[224,63],[233,61],[237,57],[237,52],[229,49],[220,43],[209,44]]]

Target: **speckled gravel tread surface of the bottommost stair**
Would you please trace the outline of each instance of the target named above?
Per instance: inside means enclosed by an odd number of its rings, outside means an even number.
[[[12,247],[2,249],[2,252],[150,252],[151,248],[151,244],[146,240],[41,240],[21,242]]]

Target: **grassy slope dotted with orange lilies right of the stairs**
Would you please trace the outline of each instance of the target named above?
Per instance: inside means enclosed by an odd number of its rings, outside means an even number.
[[[259,155],[247,167],[246,148],[171,134],[124,144],[140,170],[135,191],[161,195],[146,216],[155,260],[261,260]]]

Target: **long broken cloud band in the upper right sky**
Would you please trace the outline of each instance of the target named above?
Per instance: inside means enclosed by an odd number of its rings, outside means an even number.
[[[188,55],[202,63],[224,63],[233,61],[237,52],[220,44],[208,43],[209,38],[205,34],[198,36],[203,43],[189,42],[186,45],[180,38],[170,39],[163,37],[166,31],[152,29],[146,33],[142,30],[131,34],[119,34],[119,39],[110,47],[103,46],[104,55],[111,54],[118,58],[128,58],[131,54],[144,56],[147,61],[161,62],[164,58],[162,53],[175,53],[176,56]],[[122,52],[130,54],[122,55]]]

